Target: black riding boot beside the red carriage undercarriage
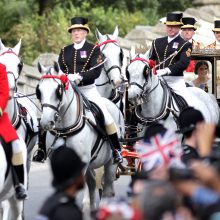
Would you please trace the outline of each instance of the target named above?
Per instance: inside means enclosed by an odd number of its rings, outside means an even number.
[[[123,157],[121,156],[121,145],[118,140],[118,135],[117,133],[108,135],[111,145],[112,145],[112,151],[113,151],[113,160],[114,163],[122,163]]]

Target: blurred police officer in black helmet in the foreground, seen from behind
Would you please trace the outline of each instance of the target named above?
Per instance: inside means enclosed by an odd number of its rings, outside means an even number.
[[[74,150],[61,146],[53,152],[51,170],[55,192],[44,202],[36,220],[83,219],[75,196],[84,186],[84,168],[85,163]]]

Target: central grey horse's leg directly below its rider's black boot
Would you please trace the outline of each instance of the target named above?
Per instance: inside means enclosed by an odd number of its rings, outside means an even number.
[[[113,182],[115,180],[116,168],[116,165],[112,164],[111,159],[104,165],[103,197],[115,196]]]

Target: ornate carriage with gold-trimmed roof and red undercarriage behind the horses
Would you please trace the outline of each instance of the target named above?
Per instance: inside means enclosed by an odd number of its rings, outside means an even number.
[[[210,92],[216,98],[218,105],[220,106],[220,50],[216,49],[200,49],[194,50],[192,55],[192,60],[203,60],[209,63],[209,69],[211,73],[210,81]],[[190,73],[191,77],[194,75]],[[123,157],[127,161],[127,166],[123,170],[118,170],[117,176],[120,175],[132,175],[134,171],[141,169],[140,159],[138,154],[134,151],[130,143],[138,141],[141,137],[135,137],[138,132],[141,131],[141,128],[137,124],[130,124],[130,119],[133,114],[134,106],[129,102],[128,99],[128,90],[125,92],[125,139],[124,139],[124,149],[122,151]],[[132,138],[133,137],[133,138]],[[135,168],[134,168],[134,165]]]

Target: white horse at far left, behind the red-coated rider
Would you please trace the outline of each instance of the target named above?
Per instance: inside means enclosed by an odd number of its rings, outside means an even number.
[[[0,63],[6,66],[10,89],[6,112],[13,126],[27,145],[29,169],[32,149],[38,141],[38,109],[28,96],[17,93],[17,81],[23,66],[18,57],[20,47],[21,40],[13,48],[5,47],[0,41]],[[24,114],[26,114],[26,117],[24,117]]]

